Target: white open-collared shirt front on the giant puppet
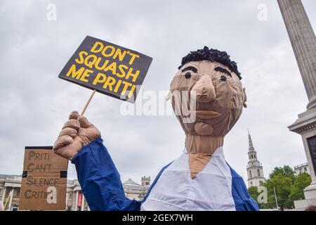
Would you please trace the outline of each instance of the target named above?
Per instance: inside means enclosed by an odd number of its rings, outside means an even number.
[[[232,175],[223,147],[191,179],[187,150],[164,169],[140,210],[235,210]]]

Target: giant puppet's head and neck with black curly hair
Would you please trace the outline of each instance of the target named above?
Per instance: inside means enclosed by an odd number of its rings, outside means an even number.
[[[226,52],[199,49],[182,60],[169,97],[193,153],[213,153],[223,146],[246,107],[246,94],[237,65]]]

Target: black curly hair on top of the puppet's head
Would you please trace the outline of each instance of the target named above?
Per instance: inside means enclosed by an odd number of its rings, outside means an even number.
[[[230,60],[230,56],[225,51],[218,51],[217,49],[209,49],[207,46],[204,46],[204,49],[198,49],[197,51],[190,51],[187,56],[182,58],[181,65],[178,67],[180,69],[185,63],[193,62],[193,61],[216,61],[218,63],[222,63],[223,65],[228,66],[232,72],[242,79],[240,76],[241,73],[238,72],[237,63],[235,61]]]

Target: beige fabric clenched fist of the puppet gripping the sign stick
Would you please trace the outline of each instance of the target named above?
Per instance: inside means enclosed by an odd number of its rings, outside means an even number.
[[[53,150],[62,158],[72,160],[82,147],[100,137],[101,133],[98,128],[88,122],[86,117],[80,116],[77,111],[73,111],[70,113],[69,120],[62,127]]]

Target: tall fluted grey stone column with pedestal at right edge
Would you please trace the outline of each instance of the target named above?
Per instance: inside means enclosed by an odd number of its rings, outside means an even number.
[[[301,134],[312,184],[304,189],[300,207],[316,205],[316,37],[301,0],[277,0],[308,96],[307,110],[289,126]],[[296,201],[298,203],[298,201]]]

